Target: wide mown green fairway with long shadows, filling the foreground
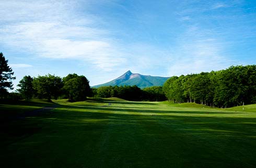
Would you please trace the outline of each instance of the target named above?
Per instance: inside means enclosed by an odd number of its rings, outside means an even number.
[[[4,167],[256,167],[256,105],[54,102],[1,127]]]

